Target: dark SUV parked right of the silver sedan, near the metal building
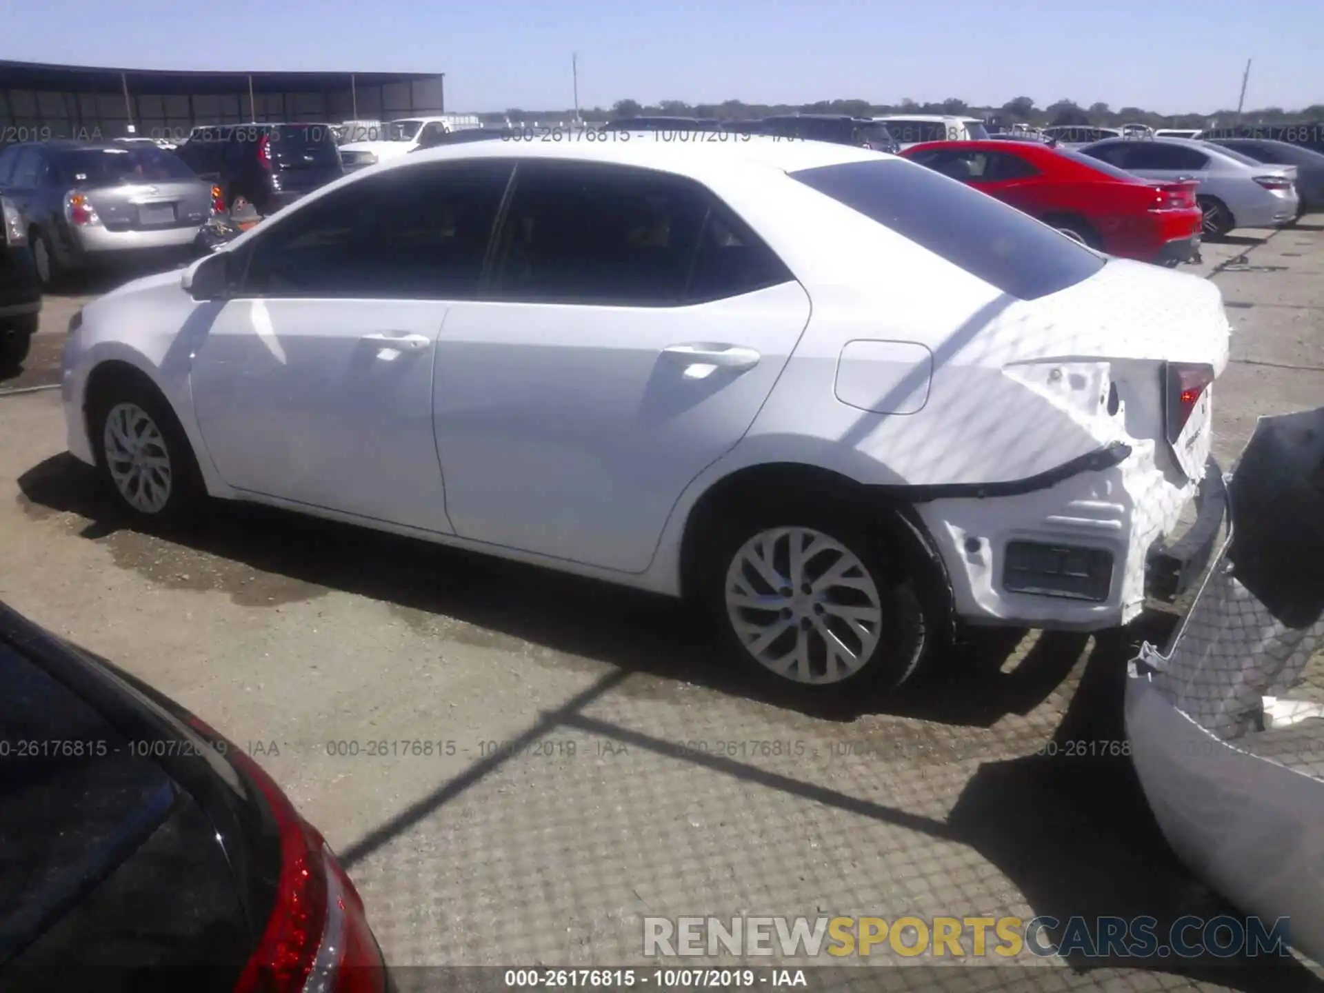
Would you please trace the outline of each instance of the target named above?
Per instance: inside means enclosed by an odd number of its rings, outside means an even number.
[[[220,187],[230,208],[249,203],[265,217],[343,175],[330,124],[236,124]]]

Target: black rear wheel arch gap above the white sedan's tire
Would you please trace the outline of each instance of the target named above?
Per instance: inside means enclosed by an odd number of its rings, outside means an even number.
[[[722,527],[741,503],[767,500],[769,493],[797,499],[805,496],[838,503],[845,512],[862,514],[879,528],[879,538],[894,542],[904,568],[915,577],[919,594],[940,620],[944,632],[955,633],[952,584],[947,564],[914,506],[895,491],[883,494],[842,473],[801,462],[767,462],[744,466],[716,479],[690,507],[681,535],[679,591],[692,598],[702,589],[708,564],[706,549],[714,528]]]

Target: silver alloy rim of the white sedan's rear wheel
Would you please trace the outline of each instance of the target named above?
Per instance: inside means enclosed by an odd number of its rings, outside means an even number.
[[[878,587],[854,552],[821,531],[760,531],[732,557],[724,594],[745,651],[792,682],[842,682],[878,647]]]

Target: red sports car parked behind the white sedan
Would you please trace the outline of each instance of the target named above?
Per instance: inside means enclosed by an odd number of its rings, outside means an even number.
[[[1148,183],[1068,148],[1029,142],[925,142],[902,156],[1111,256],[1165,266],[1200,257],[1194,180]]]

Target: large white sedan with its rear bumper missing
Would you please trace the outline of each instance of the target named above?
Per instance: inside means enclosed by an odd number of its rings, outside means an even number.
[[[1227,350],[1213,283],[922,166],[621,132],[338,180],[87,305],[62,388],[143,518],[211,494],[694,594],[826,691],[956,620],[1135,617]]]

